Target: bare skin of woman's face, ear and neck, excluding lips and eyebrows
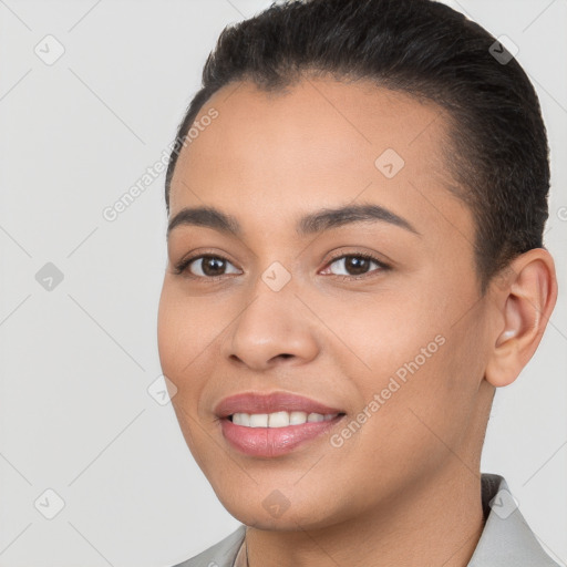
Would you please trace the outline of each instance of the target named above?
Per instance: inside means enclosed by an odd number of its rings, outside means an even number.
[[[433,103],[306,76],[285,93],[229,84],[197,121],[210,107],[218,117],[181,153],[169,219],[210,206],[243,234],[169,233],[158,349],[190,452],[250,526],[250,566],[465,566],[483,529],[493,394],[542,339],[557,297],[550,255],[517,257],[481,297],[474,220],[449,190],[446,123]],[[374,164],[386,148],[404,161],[392,178]],[[306,214],[362,203],[419,234],[384,220],[296,233]],[[174,272],[205,252],[227,262],[212,271],[196,259]],[[354,271],[344,256],[360,254],[389,268]],[[276,261],[291,276],[279,291],[261,278]],[[444,344],[340,447],[322,435],[258,458],[223,437],[215,405],[247,391],[313,398],[342,408],[348,423],[436,336]],[[274,498],[289,504],[277,517],[264,505]]]

